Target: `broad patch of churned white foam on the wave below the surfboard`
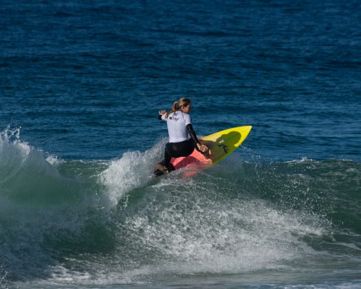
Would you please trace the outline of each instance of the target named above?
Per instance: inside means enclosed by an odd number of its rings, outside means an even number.
[[[226,204],[203,199],[192,208],[179,204],[182,200],[155,207],[157,215],[151,219],[144,214],[127,220],[129,230],[141,229],[144,246],[166,256],[165,265],[157,264],[155,271],[239,273],[279,268],[284,260],[311,250],[298,236],[322,234],[322,229],[303,224],[298,215],[277,211],[262,201]]]

